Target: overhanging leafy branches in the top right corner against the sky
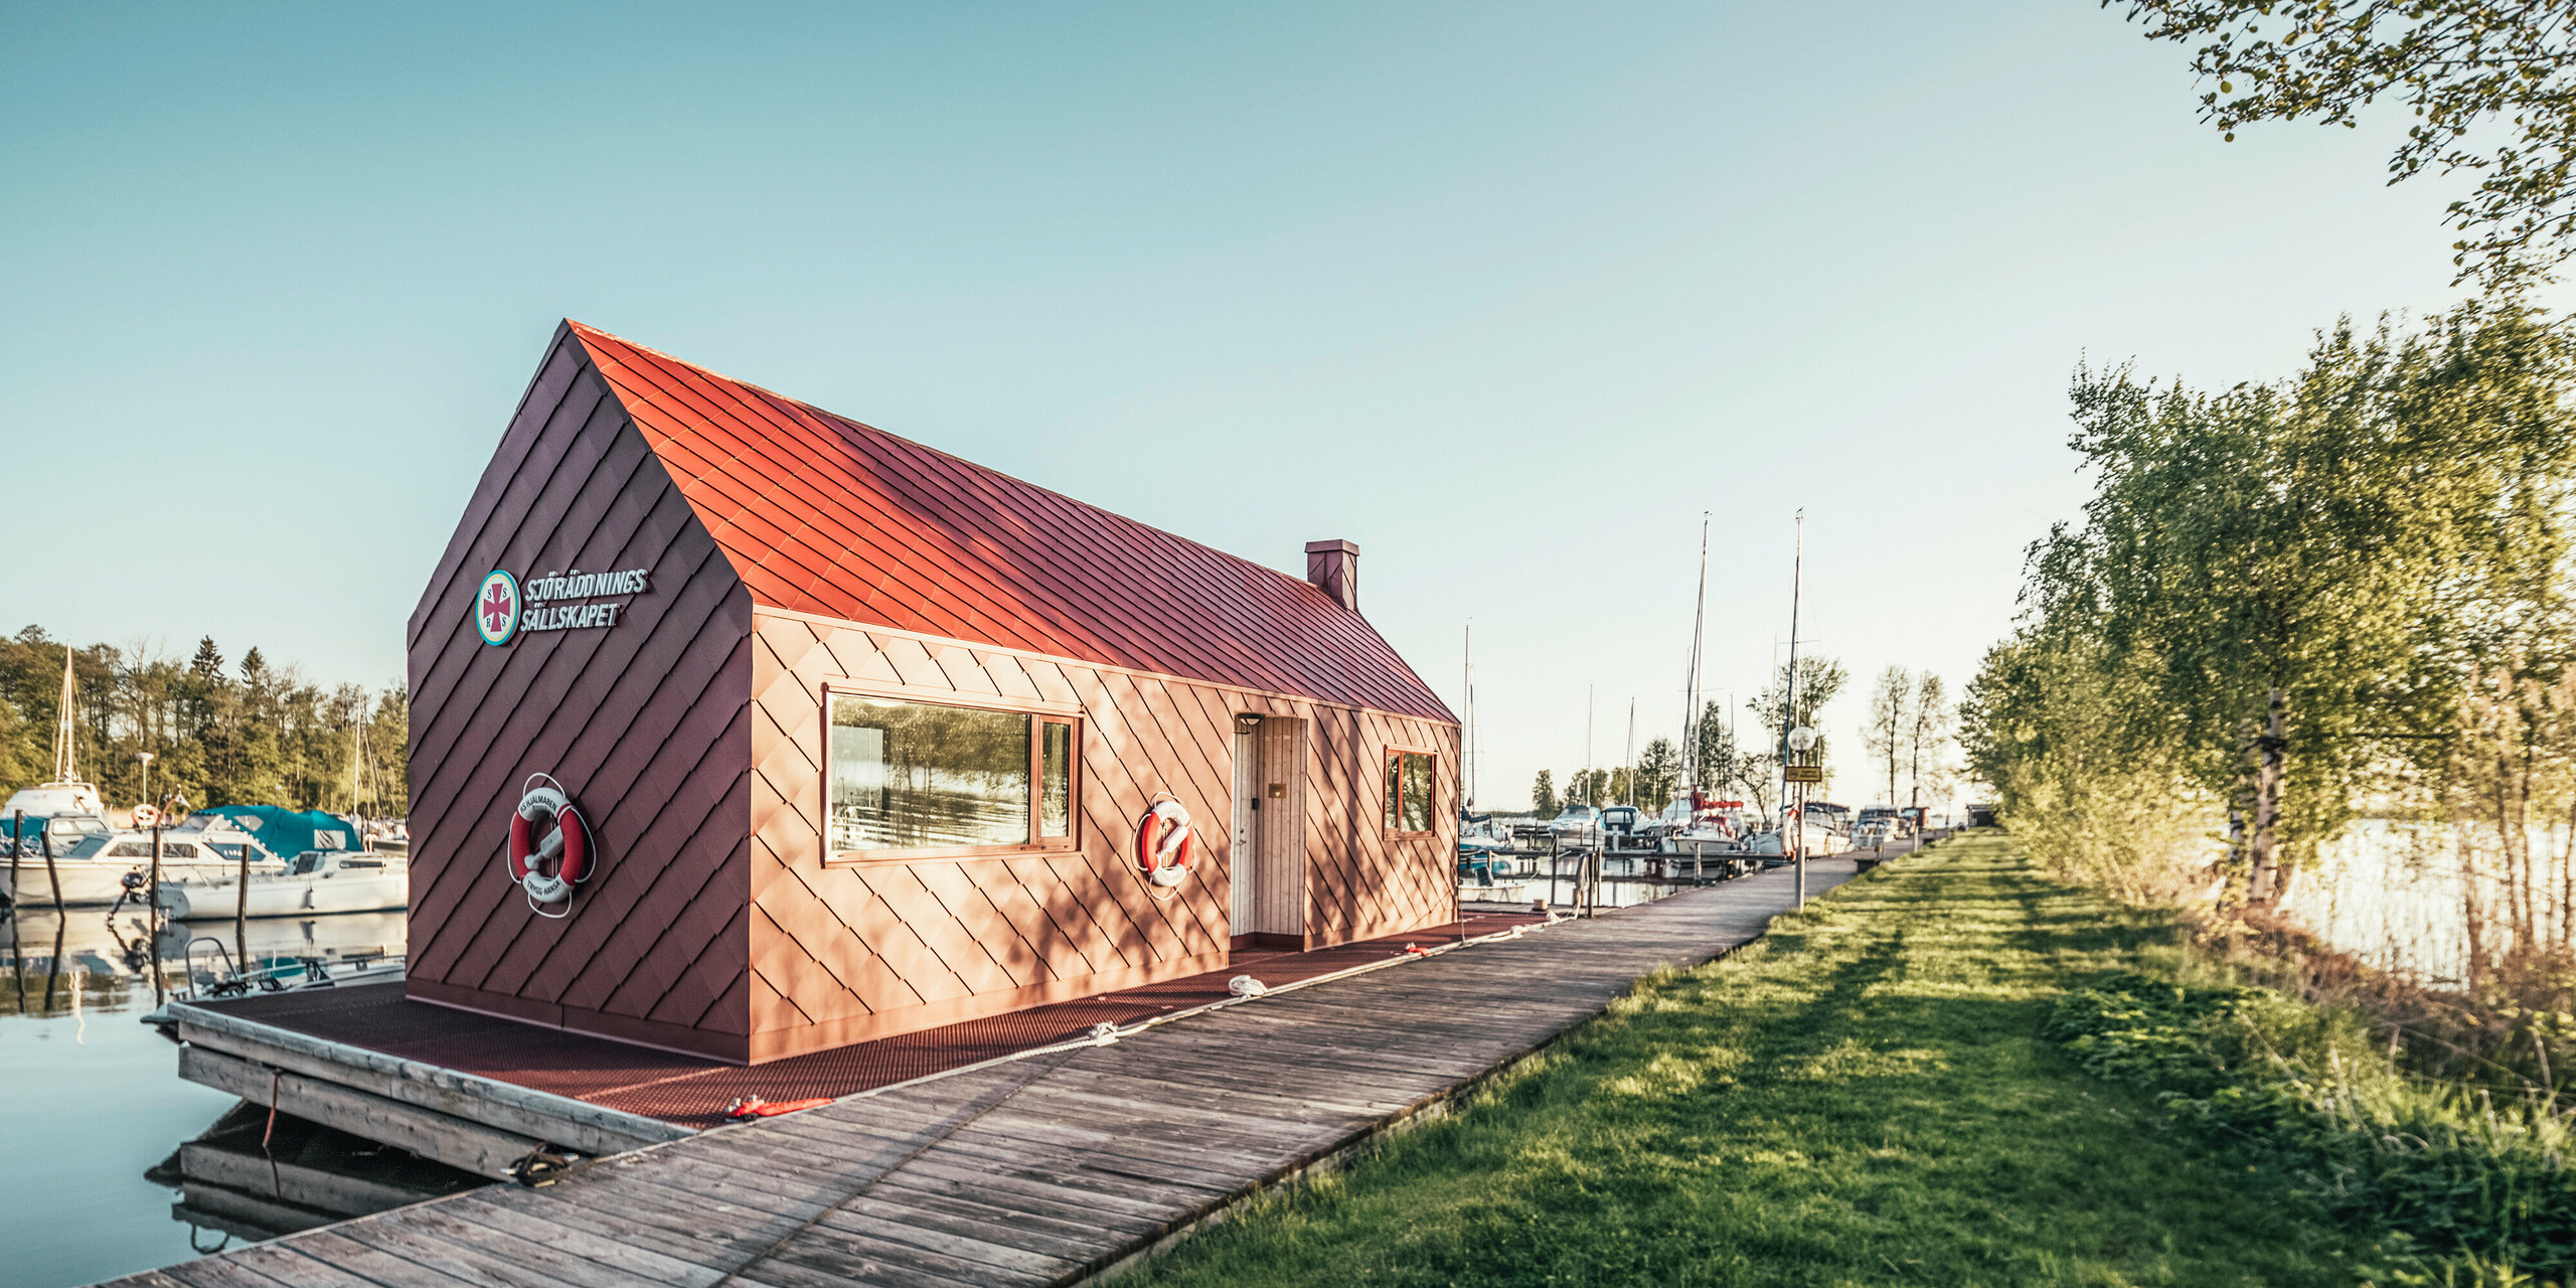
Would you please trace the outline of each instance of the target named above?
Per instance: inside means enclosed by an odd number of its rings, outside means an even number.
[[[2566,3],[2102,0],[2148,39],[2192,46],[2200,118],[2226,139],[2254,121],[2354,129],[2393,98],[2414,111],[2388,183],[2468,170],[2445,222],[2460,281],[2519,286],[2576,252],[2576,23]],[[2470,142],[2470,134],[2501,139]]]

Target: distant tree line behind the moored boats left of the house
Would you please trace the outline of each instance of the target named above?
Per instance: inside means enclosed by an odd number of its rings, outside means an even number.
[[[72,662],[72,765],[116,806],[281,804],[399,817],[407,806],[410,696],[402,685],[317,685],[258,647],[240,662],[214,639],[185,659],[155,644],[85,644],[41,626],[0,636],[0,783],[54,770],[64,657]],[[144,762],[142,755],[152,760]],[[149,786],[147,786],[149,775]]]

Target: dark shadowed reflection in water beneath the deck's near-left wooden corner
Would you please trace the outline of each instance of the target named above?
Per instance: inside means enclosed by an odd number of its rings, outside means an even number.
[[[247,1100],[170,1151],[144,1180],[180,1193],[170,1206],[173,1221],[242,1242],[484,1185],[471,1172],[286,1113],[270,1131],[268,1110]]]

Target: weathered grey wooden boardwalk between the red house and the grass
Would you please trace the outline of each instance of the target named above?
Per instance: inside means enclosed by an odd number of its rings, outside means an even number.
[[[1852,876],[1821,860],[1808,889]],[[1788,868],[116,1280],[1051,1285],[1144,1257],[1762,933]]]

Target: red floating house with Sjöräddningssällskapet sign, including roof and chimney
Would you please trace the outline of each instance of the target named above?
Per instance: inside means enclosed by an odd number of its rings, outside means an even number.
[[[1448,922],[1458,721],[1303,554],[567,322],[410,621],[404,994],[760,1064]]]

